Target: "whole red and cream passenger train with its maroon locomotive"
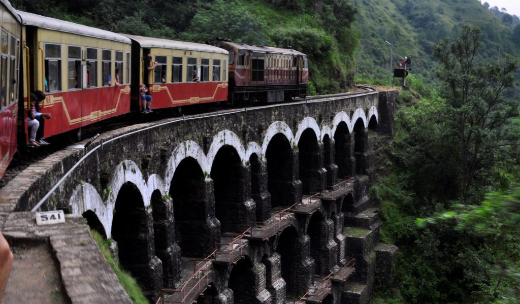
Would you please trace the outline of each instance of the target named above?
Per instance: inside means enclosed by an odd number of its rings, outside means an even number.
[[[34,91],[45,94],[38,110],[51,118],[41,137],[51,142],[121,115],[306,96],[307,55],[294,49],[113,33],[0,3],[0,178],[17,147],[29,145]]]

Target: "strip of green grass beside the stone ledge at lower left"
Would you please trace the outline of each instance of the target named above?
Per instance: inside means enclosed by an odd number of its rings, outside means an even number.
[[[139,287],[132,275],[123,270],[119,263],[114,259],[112,253],[110,252],[110,241],[103,239],[103,237],[95,230],[90,230],[90,234],[98,245],[99,250],[101,250],[103,256],[105,256],[108,265],[110,265],[110,268],[112,268],[115,275],[118,277],[119,282],[125,289],[132,302],[135,304],[149,304],[144,293],[142,292],[141,287]]]

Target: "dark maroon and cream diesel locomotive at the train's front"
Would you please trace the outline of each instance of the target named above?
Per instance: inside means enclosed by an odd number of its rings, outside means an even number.
[[[306,95],[307,55],[293,49],[227,41],[216,45],[229,51],[230,100],[274,102]]]

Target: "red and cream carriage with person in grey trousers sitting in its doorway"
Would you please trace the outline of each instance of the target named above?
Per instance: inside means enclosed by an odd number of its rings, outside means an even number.
[[[24,105],[29,107],[31,91],[45,91],[41,111],[52,118],[45,124],[44,137],[130,111],[130,39],[28,12],[18,14],[23,25],[23,70],[27,71]],[[116,69],[119,86],[115,85]]]

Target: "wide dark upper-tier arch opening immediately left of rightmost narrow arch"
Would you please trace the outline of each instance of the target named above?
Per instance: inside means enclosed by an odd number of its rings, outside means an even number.
[[[319,133],[317,134],[316,130],[311,128],[307,128],[299,134],[298,160],[300,167],[298,170],[300,171],[303,194],[314,194],[324,189],[325,176],[318,138]]]

